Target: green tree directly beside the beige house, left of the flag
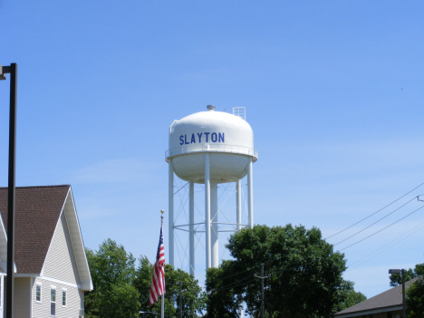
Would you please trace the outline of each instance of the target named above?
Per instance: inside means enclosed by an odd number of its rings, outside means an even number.
[[[87,318],[130,318],[139,316],[139,292],[135,279],[135,258],[108,238],[98,251],[86,248],[94,289],[85,294]]]

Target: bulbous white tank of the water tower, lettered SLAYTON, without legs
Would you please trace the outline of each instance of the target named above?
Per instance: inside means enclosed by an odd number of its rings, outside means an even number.
[[[217,183],[243,178],[249,158],[257,160],[252,128],[239,116],[215,111],[213,105],[207,109],[174,120],[169,128],[166,160],[172,158],[179,178],[203,183],[204,156],[200,153],[213,152],[211,178],[214,173]]]

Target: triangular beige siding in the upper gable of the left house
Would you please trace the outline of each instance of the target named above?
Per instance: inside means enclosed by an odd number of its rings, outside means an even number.
[[[43,276],[81,284],[64,213],[54,230],[53,240],[43,265]]]

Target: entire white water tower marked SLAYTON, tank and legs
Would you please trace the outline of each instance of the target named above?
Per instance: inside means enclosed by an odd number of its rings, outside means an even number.
[[[253,226],[253,162],[257,160],[254,134],[246,122],[244,108],[233,114],[215,111],[208,105],[200,111],[174,120],[169,127],[169,264],[174,265],[174,173],[189,183],[190,273],[195,268],[194,184],[205,185],[206,265],[217,267],[218,231],[217,185],[236,182],[236,229],[241,229],[241,183],[247,175],[247,226]]]

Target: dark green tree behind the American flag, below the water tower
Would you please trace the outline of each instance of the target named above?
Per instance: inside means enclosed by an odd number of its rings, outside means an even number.
[[[161,301],[149,306],[150,285],[153,277],[154,265],[150,264],[146,256],[139,259],[134,286],[139,291],[140,310],[143,312],[160,313]],[[182,316],[188,318],[197,318],[198,313],[205,309],[206,294],[202,292],[198,281],[193,275],[189,275],[180,269],[175,269],[172,265],[165,264],[165,314],[178,317],[179,286],[187,291],[182,294]]]

